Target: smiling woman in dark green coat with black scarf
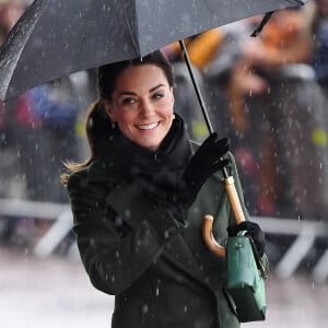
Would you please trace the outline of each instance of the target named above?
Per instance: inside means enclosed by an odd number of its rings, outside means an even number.
[[[160,51],[99,68],[91,159],[62,176],[79,250],[93,285],[115,295],[112,327],[239,327],[223,291],[224,260],[201,239],[203,214],[218,219],[221,242],[233,223],[213,174],[226,166],[238,181],[235,164],[215,133],[194,154],[173,85]]]

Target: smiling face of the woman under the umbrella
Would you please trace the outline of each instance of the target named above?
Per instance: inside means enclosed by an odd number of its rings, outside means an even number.
[[[120,73],[106,103],[110,119],[137,144],[157,150],[173,120],[173,89],[154,65],[129,67]]]

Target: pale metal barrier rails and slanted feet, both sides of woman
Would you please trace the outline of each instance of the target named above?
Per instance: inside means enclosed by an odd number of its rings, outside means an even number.
[[[72,213],[69,204],[0,199],[0,215],[52,221],[49,230],[34,246],[34,254],[39,258],[49,257],[72,227]],[[324,222],[268,216],[250,216],[250,220],[260,224],[268,235],[294,236],[293,243],[274,266],[274,273],[281,279],[288,279],[294,274],[301,261],[314,247],[317,238],[326,237],[328,239],[328,224]],[[73,243],[69,253],[77,254],[75,243]],[[318,258],[311,274],[316,282],[324,283],[327,281],[328,248]]]

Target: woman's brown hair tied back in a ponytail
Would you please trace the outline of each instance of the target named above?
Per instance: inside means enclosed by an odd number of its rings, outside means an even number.
[[[160,50],[156,50],[142,58],[114,62],[99,67],[97,74],[99,98],[91,104],[86,112],[85,119],[85,132],[90,148],[90,157],[83,163],[74,163],[69,161],[63,163],[69,171],[69,173],[62,173],[60,175],[61,183],[65,186],[67,186],[71,173],[86,168],[95,159],[99,140],[102,140],[104,138],[104,133],[108,133],[108,129],[110,129],[110,119],[106,113],[103,99],[112,102],[112,94],[115,90],[117,78],[124,70],[132,66],[141,65],[155,65],[160,67],[167,79],[168,85],[174,85],[172,65]]]

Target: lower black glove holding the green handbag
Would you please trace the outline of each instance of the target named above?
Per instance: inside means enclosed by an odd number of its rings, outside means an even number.
[[[254,241],[258,255],[261,257],[265,254],[266,238],[263,232],[257,223],[244,221],[239,224],[231,224],[226,229],[230,237],[236,236],[239,231],[244,230],[247,231],[246,235],[249,235]]]

